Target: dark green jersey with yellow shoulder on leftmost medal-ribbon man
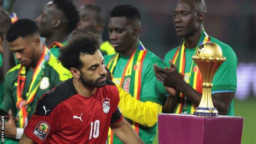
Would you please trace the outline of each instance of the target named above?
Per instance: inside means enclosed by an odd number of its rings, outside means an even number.
[[[21,64],[14,66],[7,72],[5,76],[5,96],[2,103],[2,107],[6,112],[8,112],[11,109],[14,118],[16,118],[18,114],[16,102],[18,85],[17,80],[20,68]],[[25,86],[22,93],[22,98],[24,100],[27,99],[26,93],[29,90],[33,73],[34,71],[27,69]],[[39,100],[39,98],[41,98],[41,96],[43,96],[44,93],[46,93],[50,89],[53,89],[53,87],[57,86],[59,82],[67,80],[71,77],[72,75],[70,71],[65,69],[60,63],[58,63],[57,58],[50,54],[48,64],[46,65],[44,73],[41,77],[41,82],[39,82],[39,88],[37,89],[34,101],[30,103],[29,107],[27,108],[28,120],[32,117],[32,114],[34,114],[34,110],[37,106],[37,101]],[[6,144],[18,143],[17,139],[6,139]]]

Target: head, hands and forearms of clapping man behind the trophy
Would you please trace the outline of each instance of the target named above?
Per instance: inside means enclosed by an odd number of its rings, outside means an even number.
[[[195,48],[197,46],[205,17],[204,13],[197,14],[192,11],[191,1],[179,1],[174,10],[174,26],[177,35],[185,39],[186,48]],[[194,105],[199,105],[202,94],[183,80],[183,77],[171,62],[170,67],[165,69],[155,65],[154,71],[156,78],[165,85],[169,92],[169,97],[163,106],[163,112],[174,112],[174,108],[179,101],[179,92],[182,92]],[[234,95],[235,93],[233,92],[212,94],[213,105],[218,109],[219,114],[227,114]]]

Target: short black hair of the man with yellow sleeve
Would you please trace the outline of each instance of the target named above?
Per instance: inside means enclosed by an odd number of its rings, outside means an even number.
[[[132,4],[119,4],[110,11],[110,17],[126,17],[140,21],[139,9]]]

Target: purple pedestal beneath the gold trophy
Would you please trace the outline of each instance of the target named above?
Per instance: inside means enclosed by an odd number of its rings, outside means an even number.
[[[158,144],[241,144],[242,117],[158,114]]]

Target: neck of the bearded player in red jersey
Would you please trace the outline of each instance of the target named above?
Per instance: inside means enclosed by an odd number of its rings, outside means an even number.
[[[78,94],[84,97],[90,97],[94,94],[96,87],[85,87],[80,79],[73,78],[73,84]]]

